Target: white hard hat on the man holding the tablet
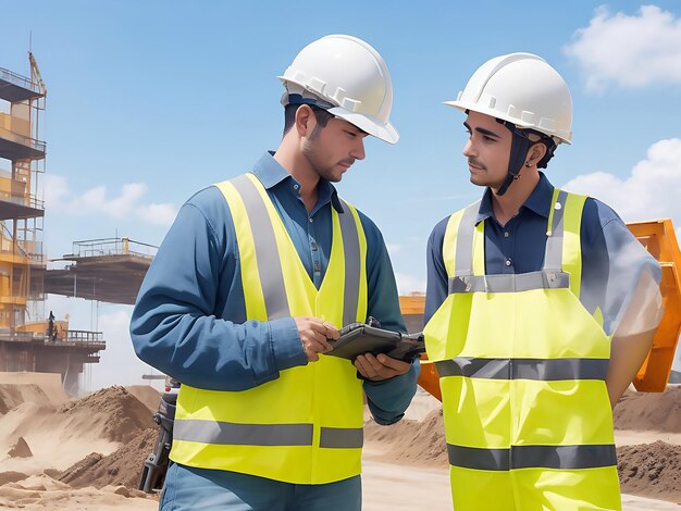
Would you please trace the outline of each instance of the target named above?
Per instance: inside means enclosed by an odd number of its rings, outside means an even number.
[[[357,37],[326,36],[306,46],[283,76],[286,94],[301,90],[331,103],[329,113],[386,142],[399,134],[389,123],[393,84],[385,62]]]

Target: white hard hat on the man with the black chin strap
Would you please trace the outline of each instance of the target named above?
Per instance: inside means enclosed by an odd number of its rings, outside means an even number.
[[[456,101],[445,104],[535,129],[557,144],[570,144],[572,138],[570,90],[556,70],[532,53],[488,60],[471,76]]]

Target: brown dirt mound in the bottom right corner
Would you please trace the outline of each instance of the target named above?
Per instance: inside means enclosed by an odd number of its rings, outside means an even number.
[[[620,447],[617,456],[623,493],[681,501],[681,446],[658,440]]]

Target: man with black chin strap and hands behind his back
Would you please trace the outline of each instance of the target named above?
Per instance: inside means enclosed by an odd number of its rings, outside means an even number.
[[[610,208],[540,172],[572,138],[570,92],[543,59],[492,59],[446,104],[467,114],[485,187],[428,247],[454,507],[621,509],[611,409],[659,323],[659,265]]]

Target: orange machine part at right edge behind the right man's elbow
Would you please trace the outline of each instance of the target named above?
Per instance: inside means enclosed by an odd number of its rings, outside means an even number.
[[[659,288],[665,314],[653,347],[633,382],[639,391],[661,392],[667,387],[681,335],[681,252],[671,220],[636,222],[627,226],[663,269]]]

